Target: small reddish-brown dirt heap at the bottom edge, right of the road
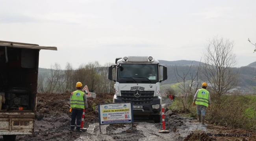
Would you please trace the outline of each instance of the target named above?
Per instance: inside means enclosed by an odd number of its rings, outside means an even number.
[[[217,141],[215,137],[209,137],[205,132],[190,133],[182,141]]]

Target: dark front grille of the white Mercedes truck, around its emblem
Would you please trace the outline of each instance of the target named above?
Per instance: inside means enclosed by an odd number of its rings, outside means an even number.
[[[134,105],[150,104],[153,102],[154,91],[140,91],[141,96],[136,98],[134,91],[121,90],[122,102],[132,102]]]

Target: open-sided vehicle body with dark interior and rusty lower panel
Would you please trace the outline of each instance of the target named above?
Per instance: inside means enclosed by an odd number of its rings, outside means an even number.
[[[39,51],[36,44],[0,41],[0,135],[34,134]]]

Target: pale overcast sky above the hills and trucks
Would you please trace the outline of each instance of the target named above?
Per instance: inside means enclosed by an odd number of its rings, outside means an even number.
[[[200,61],[206,40],[234,40],[236,67],[256,61],[256,0],[5,0],[0,40],[55,46],[39,67],[124,56]]]

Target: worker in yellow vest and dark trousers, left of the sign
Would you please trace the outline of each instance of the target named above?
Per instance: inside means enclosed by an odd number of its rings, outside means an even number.
[[[72,108],[70,130],[74,131],[75,122],[76,122],[76,131],[82,132],[82,130],[80,130],[80,127],[81,127],[83,109],[85,109],[85,112],[87,112],[88,105],[87,105],[86,95],[82,91],[81,82],[76,83],[76,89],[77,90],[72,92],[70,96],[70,107]]]

